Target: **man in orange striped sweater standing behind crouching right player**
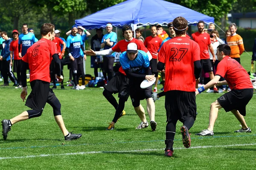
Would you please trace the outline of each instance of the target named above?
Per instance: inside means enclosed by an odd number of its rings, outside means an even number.
[[[243,39],[239,34],[236,34],[237,26],[235,23],[230,24],[228,28],[231,32],[231,35],[227,37],[227,45],[231,48],[230,57],[241,64],[240,55],[244,52]]]

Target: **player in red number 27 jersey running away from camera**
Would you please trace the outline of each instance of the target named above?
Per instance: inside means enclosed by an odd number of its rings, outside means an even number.
[[[196,118],[195,82],[201,72],[200,48],[198,43],[186,37],[188,22],[183,17],[173,20],[176,37],[164,43],[159,51],[157,69],[165,67],[166,93],[165,108],[167,116],[165,156],[171,157],[177,121],[180,127],[183,145],[190,147],[189,129]]]

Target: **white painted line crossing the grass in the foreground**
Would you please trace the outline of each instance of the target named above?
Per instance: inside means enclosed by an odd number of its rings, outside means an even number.
[[[189,147],[189,149],[199,149],[199,148],[210,148],[210,147],[236,147],[236,146],[250,146],[256,145],[256,143],[252,144],[230,144],[230,145],[212,145],[212,146],[195,146]],[[177,147],[177,149],[186,149],[185,147]],[[29,155],[29,156],[14,156],[14,157],[0,157],[2,159],[24,159],[24,158],[38,158],[38,157],[48,157],[48,156],[68,156],[68,155],[87,155],[87,154],[96,154],[96,153],[130,153],[130,152],[147,152],[147,151],[156,151],[156,150],[164,150],[163,149],[143,149],[143,150],[116,150],[116,151],[90,151],[90,152],[75,152],[75,153],[59,153],[59,154],[41,154],[41,155]]]

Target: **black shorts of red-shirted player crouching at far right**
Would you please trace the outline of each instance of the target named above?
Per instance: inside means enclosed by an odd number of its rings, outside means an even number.
[[[253,97],[253,89],[232,90],[223,94],[217,100],[226,112],[238,110],[243,116],[246,115],[246,105]]]

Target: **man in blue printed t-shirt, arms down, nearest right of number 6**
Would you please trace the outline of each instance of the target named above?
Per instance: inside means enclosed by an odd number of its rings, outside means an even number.
[[[82,38],[80,34],[77,34],[77,26],[74,25],[72,27],[72,34],[70,34],[67,37],[67,43],[66,43],[66,49],[68,52],[68,56],[71,60],[71,70],[73,72],[73,81],[75,83],[75,86],[73,87],[76,90],[83,90],[85,88],[84,84],[84,63],[83,63],[83,57],[84,57],[84,46],[82,45]],[[86,58],[85,58],[86,59]],[[82,85],[79,87],[78,85],[78,79],[79,76],[82,77]]]

